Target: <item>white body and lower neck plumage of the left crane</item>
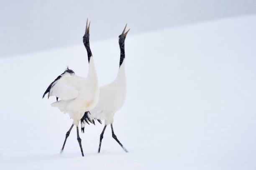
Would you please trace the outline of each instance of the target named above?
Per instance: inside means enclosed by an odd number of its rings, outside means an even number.
[[[52,103],[51,106],[68,113],[74,120],[73,124],[78,126],[84,112],[95,107],[99,99],[99,85],[93,57],[90,58],[87,78],[66,72],[51,87],[50,96],[52,95],[61,100]]]

